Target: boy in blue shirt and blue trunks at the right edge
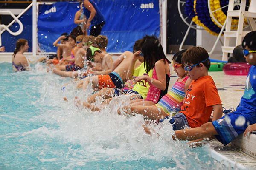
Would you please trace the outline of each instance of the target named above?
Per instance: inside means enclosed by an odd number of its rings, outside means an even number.
[[[246,34],[242,45],[246,62],[252,66],[245,82],[244,95],[236,111],[198,128],[175,131],[173,139],[200,141],[202,138],[212,139],[215,136],[222,144],[227,145],[249,125],[256,123],[256,31]],[[246,132],[248,131],[249,128]]]

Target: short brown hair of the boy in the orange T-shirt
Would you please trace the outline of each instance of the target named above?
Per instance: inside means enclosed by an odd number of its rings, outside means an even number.
[[[209,57],[208,52],[202,47],[192,47],[187,49],[187,51],[182,55],[181,64],[189,65],[189,64],[197,64],[199,62],[204,61]],[[211,62],[209,59],[202,62],[204,66],[209,70],[211,66]],[[199,65],[197,65],[199,67]]]

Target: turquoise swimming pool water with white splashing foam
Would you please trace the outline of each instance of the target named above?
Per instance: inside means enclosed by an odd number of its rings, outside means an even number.
[[[62,90],[70,80],[41,63],[17,73],[0,63],[0,169],[230,169],[207,147],[148,136],[142,116],[116,113],[121,104],[102,112],[76,108],[74,97],[89,94],[72,83]],[[173,133],[169,126],[162,131]]]

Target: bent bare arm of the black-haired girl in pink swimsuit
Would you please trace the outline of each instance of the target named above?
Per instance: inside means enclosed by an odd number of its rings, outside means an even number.
[[[168,64],[168,63],[166,63]],[[149,76],[138,76],[135,79],[135,83],[137,83],[140,80],[146,79],[149,84],[154,85],[156,88],[159,88],[161,90],[166,89],[166,72],[165,72],[166,65],[163,61],[157,61],[155,63],[155,69],[157,71],[157,79],[153,79]]]

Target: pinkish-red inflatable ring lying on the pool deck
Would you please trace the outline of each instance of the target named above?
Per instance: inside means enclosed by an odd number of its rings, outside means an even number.
[[[246,62],[230,62],[223,66],[223,71],[227,75],[247,75],[251,65]]]

